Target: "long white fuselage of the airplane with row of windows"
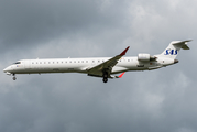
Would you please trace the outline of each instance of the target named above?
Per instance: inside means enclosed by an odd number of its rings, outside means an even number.
[[[53,58],[53,59],[21,59],[4,69],[8,74],[42,74],[42,73],[85,73],[110,57],[92,58]],[[128,70],[151,70],[174,64],[174,59],[161,58],[156,62],[141,62],[138,57],[122,57],[112,68],[111,74]]]

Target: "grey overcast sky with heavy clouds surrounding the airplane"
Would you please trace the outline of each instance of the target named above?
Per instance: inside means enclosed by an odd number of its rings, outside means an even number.
[[[1,132],[196,132],[196,0],[0,0]],[[162,53],[179,63],[102,82],[85,74],[17,75],[18,59]]]

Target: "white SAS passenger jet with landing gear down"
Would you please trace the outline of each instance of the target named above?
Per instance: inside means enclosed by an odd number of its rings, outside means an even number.
[[[123,57],[130,47],[128,46],[114,57],[21,59],[4,68],[3,72],[12,75],[13,80],[17,79],[17,74],[83,73],[101,77],[102,81],[107,82],[108,78],[121,78],[125,72],[153,70],[176,64],[179,50],[189,50],[187,42],[190,41],[173,41],[158,55],[140,53],[134,57]],[[113,74],[120,75],[113,76]]]

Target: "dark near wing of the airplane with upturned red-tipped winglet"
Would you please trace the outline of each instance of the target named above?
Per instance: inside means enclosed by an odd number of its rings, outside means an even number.
[[[117,55],[90,69],[88,69],[89,76],[96,76],[96,77],[102,77],[103,73],[108,73],[108,77],[111,78],[110,74],[114,65],[117,65],[118,61],[125,55],[127,51],[129,50],[129,46],[120,54]]]

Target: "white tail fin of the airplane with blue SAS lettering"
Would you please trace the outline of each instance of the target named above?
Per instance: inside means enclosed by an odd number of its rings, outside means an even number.
[[[188,41],[173,41],[167,46],[167,48],[162,54],[160,54],[158,56],[175,59],[176,56],[178,55],[180,48],[189,50],[189,47],[187,46],[187,42],[190,42],[190,41],[191,40],[188,40]]]

